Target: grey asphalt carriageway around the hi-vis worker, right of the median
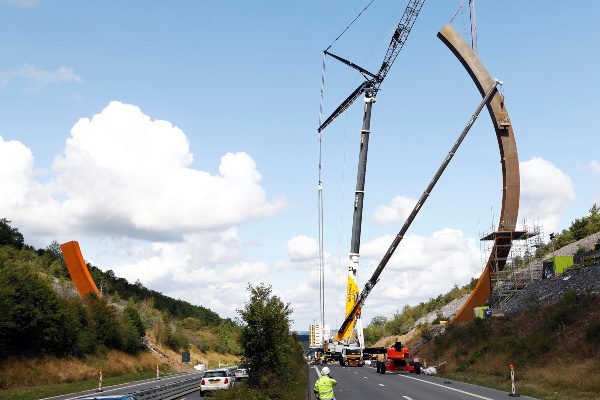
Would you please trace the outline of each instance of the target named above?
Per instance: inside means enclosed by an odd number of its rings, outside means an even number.
[[[468,383],[449,381],[436,376],[410,373],[378,374],[375,368],[342,367],[328,365],[331,376],[338,384],[334,389],[336,400],[377,399],[377,400],[506,400],[512,398],[510,382],[506,391],[488,389]],[[312,387],[318,379],[316,368],[309,366],[310,399],[314,400]],[[516,388],[518,389],[518,387]],[[516,390],[518,394],[518,390]],[[521,399],[531,397],[520,396]]]

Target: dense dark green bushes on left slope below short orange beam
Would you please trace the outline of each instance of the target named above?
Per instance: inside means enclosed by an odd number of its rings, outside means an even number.
[[[144,331],[133,305],[124,314],[90,294],[63,298],[26,266],[0,269],[0,356],[81,356],[103,348],[136,353]]]

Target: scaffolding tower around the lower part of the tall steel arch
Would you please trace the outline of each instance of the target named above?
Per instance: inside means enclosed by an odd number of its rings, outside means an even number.
[[[537,249],[544,245],[539,225],[522,225],[489,229],[481,237],[483,255],[490,260],[492,294],[486,305],[492,312],[500,310],[529,283],[542,277],[542,257]]]

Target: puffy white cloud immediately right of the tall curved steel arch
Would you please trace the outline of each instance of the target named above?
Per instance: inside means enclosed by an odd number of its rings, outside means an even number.
[[[520,174],[519,216],[539,221],[546,231],[557,230],[561,214],[575,200],[571,178],[540,157],[521,162]]]

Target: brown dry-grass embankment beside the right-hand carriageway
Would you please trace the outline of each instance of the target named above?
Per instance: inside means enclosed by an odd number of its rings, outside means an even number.
[[[537,399],[595,400],[600,393],[600,297],[567,292],[519,316],[451,326],[418,350],[440,376]]]

